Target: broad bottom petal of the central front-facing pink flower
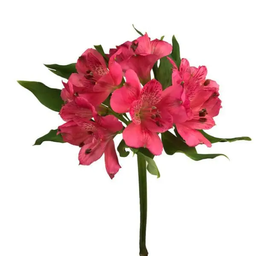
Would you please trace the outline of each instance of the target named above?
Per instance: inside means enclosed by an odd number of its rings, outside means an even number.
[[[129,124],[123,131],[123,139],[129,147],[145,147],[154,155],[162,154],[163,144],[160,137],[157,133],[143,128],[142,125]]]

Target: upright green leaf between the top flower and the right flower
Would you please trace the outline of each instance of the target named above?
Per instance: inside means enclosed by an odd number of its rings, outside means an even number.
[[[160,58],[157,80],[162,84],[163,89],[172,85],[172,64],[166,57]]]

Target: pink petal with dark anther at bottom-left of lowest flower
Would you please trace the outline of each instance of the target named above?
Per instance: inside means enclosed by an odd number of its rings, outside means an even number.
[[[100,140],[94,140],[91,143],[82,146],[79,152],[79,164],[90,165],[91,163],[98,160],[104,153],[107,142]]]

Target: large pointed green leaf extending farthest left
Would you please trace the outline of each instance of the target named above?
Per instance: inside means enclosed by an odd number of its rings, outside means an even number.
[[[47,108],[59,112],[63,104],[61,90],[50,88],[40,82],[17,81],[21,86],[30,90]]]

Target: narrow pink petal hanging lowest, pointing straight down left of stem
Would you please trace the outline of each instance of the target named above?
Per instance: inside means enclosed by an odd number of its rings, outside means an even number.
[[[105,148],[105,166],[109,177],[113,179],[115,174],[119,171],[121,166],[119,165],[116,155],[115,144],[113,140],[110,140]]]

